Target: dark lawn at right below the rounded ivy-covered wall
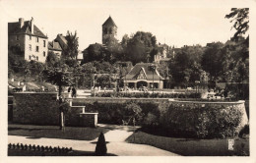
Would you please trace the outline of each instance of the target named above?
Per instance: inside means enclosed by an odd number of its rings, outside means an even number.
[[[137,131],[126,141],[130,143],[148,144],[184,156],[248,156],[249,138],[234,138],[234,150],[228,150],[228,138],[194,139],[167,136],[154,136]]]

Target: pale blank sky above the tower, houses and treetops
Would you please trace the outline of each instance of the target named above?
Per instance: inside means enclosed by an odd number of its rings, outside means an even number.
[[[33,2],[33,3],[32,3]],[[101,25],[109,17],[117,25],[117,39],[138,30],[150,31],[160,43],[181,47],[208,42],[225,42],[233,34],[224,16],[228,5],[177,3],[177,1],[4,1],[4,18],[18,22],[31,20],[49,40],[58,33],[77,30],[79,48],[101,43]],[[184,1],[183,1],[184,2]]]

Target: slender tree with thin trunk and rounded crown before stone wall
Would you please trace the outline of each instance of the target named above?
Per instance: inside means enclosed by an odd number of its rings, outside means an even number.
[[[70,86],[74,84],[74,79],[71,74],[68,74],[63,69],[48,69],[43,71],[44,78],[46,81],[51,82],[52,84],[56,84],[59,87],[58,97],[59,97],[59,111],[60,111],[60,130],[65,131],[65,108],[63,106],[63,99],[62,99],[62,91],[63,86]]]

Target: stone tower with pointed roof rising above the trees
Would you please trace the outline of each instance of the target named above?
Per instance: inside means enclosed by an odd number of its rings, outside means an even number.
[[[108,44],[109,38],[115,38],[117,33],[117,26],[114,24],[112,18],[108,19],[102,25],[102,44]]]

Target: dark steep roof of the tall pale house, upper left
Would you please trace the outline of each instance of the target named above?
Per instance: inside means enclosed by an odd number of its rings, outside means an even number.
[[[24,34],[24,33],[47,38],[47,36],[45,36],[43,32],[35,25],[33,25],[33,33],[32,33],[31,21],[25,21],[24,26],[22,28],[20,27],[19,22],[8,23],[8,34]]]

